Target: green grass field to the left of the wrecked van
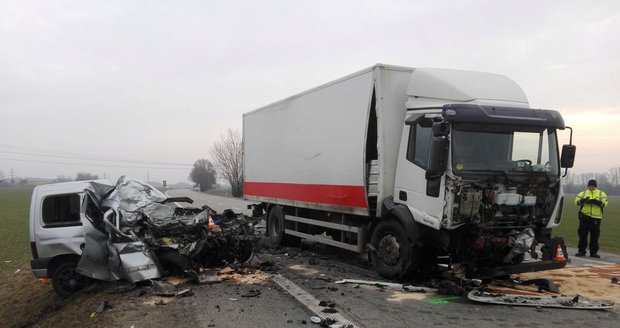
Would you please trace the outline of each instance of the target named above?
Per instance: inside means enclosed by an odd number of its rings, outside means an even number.
[[[32,187],[0,187],[0,276],[30,260],[28,215]]]

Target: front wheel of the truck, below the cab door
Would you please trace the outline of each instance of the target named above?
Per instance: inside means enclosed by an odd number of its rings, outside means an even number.
[[[375,248],[370,259],[382,277],[402,279],[413,271],[412,241],[400,222],[395,219],[379,222],[370,243]]]

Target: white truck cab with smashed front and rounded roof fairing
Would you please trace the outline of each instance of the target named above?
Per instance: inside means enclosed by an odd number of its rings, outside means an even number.
[[[551,229],[575,149],[565,145],[560,160],[562,116],[530,109],[514,82],[488,73],[416,71],[408,94],[394,204],[470,275],[563,267],[552,261],[558,245],[566,250]]]

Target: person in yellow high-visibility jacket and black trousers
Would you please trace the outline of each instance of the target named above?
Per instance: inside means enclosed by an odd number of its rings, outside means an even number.
[[[598,237],[601,234],[603,209],[607,206],[607,194],[597,188],[596,180],[588,181],[588,189],[575,197],[575,205],[579,206],[579,251],[575,256],[585,256],[590,234],[590,256],[598,255]]]

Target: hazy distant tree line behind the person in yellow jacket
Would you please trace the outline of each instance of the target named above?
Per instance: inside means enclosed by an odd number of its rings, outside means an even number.
[[[578,193],[587,188],[588,180],[595,179],[598,188],[608,195],[620,195],[620,166],[603,173],[572,173],[564,177],[564,191]]]

